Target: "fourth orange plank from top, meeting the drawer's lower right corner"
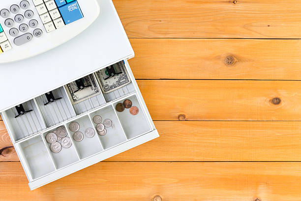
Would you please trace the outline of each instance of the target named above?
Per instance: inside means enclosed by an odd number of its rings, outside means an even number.
[[[154,123],[159,138],[107,161],[301,161],[301,122]],[[15,152],[0,158],[9,160],[19,161]]]

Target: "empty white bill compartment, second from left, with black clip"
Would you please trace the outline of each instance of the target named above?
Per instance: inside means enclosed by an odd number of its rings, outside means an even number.
[[[48,100],[45,94],[36,98],[48,128],[76,116],[64,87],[53,90],[52,94],[55,99],[61,99],[46,104]]]

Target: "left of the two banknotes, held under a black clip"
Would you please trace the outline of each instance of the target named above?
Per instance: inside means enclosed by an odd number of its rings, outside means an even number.
[[[93,74],[66,84],[65,88],[72,104],[77,104],[101,93]]]

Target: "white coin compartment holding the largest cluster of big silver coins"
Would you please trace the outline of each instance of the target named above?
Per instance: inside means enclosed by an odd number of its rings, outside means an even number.
[[[58,128],[58,127],[57,127]],[[56,128],[56,129],[57,129]],[[70,164],[73,164],[77,161],[79,161],[79,156],[75,150],[74,144],[72,143],[72,145],[69,148],[63,148],[61,147],[61,150],[59,153],[53,153],[50,150],[50,144],[46,141],[46,135],[50,132],[54,132],[56,129],[53,129],[51,131],[45,132],[42,134],[42,138],[44,141],[44,144],[48,150],[48,153],[51,155],[51,158],[55,164],[55,167],[57,169],[60,169],[62,167],[66,167]],[[69,134],[67,134],[67,137],[70,137]],[[60,142],[60,141],[59,141]]]

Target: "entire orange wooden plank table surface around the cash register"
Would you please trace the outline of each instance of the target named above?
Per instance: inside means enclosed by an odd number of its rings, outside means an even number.
[[[161,136],[30,192],[0,121],[0,201],[300,200],[301,1],[114,4]]]

